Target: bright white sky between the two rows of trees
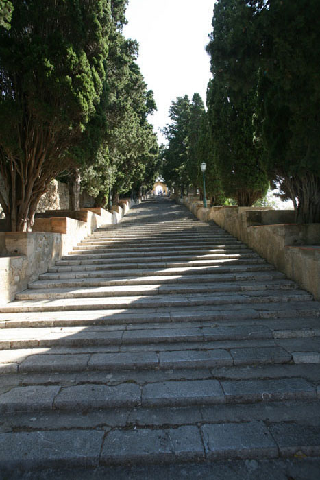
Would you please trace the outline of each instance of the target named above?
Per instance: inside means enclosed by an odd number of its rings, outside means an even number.
[[[212,31],[215,0],[129,0],[124,35],[138,40],[138,64],[148,88],[153,90],[158,112],[149,117],[159,128],[169,123],[171,101],[199,93],[206,104],[211,77],[205,51]]]

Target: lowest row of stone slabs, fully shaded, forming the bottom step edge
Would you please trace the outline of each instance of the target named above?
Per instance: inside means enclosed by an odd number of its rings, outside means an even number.
[[[300,430],[299,430],[300,429]],[[314,437],[310,442],[308,438]],[[295,440],[299,439],[299,441]],[[290,459],[320,455],[319,432],[299,424],[186,424],[176,429],[133,428],[1,433],[0,468],[7,472],[47,468],[177,464],[191,461]],[[47,448],[54,445],[55,448]],[[303,460],[301,460],[303,461]],[[129,478],[129,477],[128,477]]]

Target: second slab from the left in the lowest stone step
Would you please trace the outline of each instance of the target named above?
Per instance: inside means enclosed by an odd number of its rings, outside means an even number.
[[[201,458],[204,458],[204,447],[197,427],[114,430],[108,433],[103,442],[101,464],[137,461],[158,463]]]

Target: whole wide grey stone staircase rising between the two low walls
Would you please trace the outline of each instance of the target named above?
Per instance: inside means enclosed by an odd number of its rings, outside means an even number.
[[[319,302],[167,198],[82,241],[0,328],[10,479],[319,478]]]

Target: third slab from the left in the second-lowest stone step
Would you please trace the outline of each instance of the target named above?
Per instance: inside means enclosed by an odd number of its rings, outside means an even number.
[[[143,405],[199,405],[224,401],[217,380],[156,382],[143,387]]]

